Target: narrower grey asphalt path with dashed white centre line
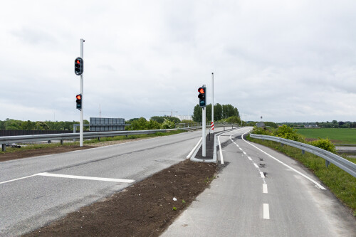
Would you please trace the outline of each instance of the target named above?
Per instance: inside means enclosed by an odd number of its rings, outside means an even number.
[[[356,236],[355,218],[317,177],[241,139],[247,130],[219,137],[224,169],[162,236]]]

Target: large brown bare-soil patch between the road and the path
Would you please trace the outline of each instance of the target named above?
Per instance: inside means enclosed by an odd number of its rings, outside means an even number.
[[[159,236],[215,174],[186,160],[24,236]]]

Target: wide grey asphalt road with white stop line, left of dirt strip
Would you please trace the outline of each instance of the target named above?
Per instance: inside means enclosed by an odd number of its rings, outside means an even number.
[[[222,128],[216,129],[216,131]],[[187,157],[201,131],[0,163],[0,236],[18,236]]]

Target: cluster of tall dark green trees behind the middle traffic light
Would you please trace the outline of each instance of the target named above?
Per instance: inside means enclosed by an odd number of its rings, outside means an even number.
[[[231,118],[230,120],[234,120],[236,121],[236,123],[239,123],[239,121],[241,122],[239,110],[237,110],[236,107],[232,105],[220,105],[219,103],[214,105],[214,121],[226,120],[229,117],[234,117]],[[199,105],[195,105],[193,111],[193,121],[201,122],[201,118],[202,118],[201,107]],[[206,121],[207,122],[211,121],[211,104],[206,105]]]

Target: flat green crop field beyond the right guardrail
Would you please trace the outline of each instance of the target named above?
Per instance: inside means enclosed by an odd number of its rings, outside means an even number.
[[[335,144],[356,144],[356,130],[347,128],[302,128],[297,129],[306,138],[329,138]]]

